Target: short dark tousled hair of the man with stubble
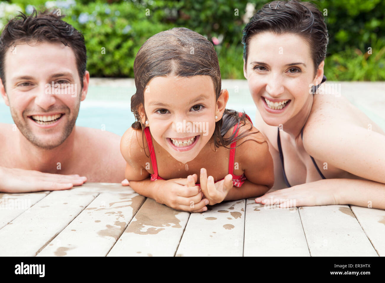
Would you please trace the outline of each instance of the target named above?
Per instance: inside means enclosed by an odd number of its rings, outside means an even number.
[[[0,36],[0,78],[5,87],[5,53],[10,47],[20,43],[30,42],[61,42],[72,48],[75,53],[77,70],[83,88],[83,78],[87,65],[87,52],[84,37],[72,25],[62,20],[57,9],[37,12],[35,8],[31,15],[20,15],[12,18],[5,25]],[[8,67],[9,68],[9,67]]]

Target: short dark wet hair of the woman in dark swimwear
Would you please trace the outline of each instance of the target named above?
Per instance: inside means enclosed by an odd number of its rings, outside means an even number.
[[[261,32],[296,33],[305,38],[310,46],[314,74],[326,57],[328,30],[322,13],[313,3],[273,1],[256,12],[243,29],[243,58],[246,63],[249,41],[253,35]]]

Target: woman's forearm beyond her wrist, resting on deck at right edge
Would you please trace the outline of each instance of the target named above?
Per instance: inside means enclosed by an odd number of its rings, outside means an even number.
[[[336,188],[337,201],[343,205],[357,205],[385,209],[385,184],[357,179],[329,179]]]

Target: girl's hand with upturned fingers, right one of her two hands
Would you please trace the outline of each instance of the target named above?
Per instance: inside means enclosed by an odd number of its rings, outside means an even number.
[[[228,174],[224,180],[214,183],[213,176],[207,177],[206,169],[201,168],[200,185],[204,196],[209,200],[209,205],[214,205],[221,203],[233,188],[233,176]]]

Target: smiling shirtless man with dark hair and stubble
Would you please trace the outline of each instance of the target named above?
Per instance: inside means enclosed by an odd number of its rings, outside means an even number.
[[[0,123],[0,191],[63,190],[120,182],[120,137],[76,127],[89,72],[80,32],[56,11],[21,14],[0,37],[0,94],[15,125]]]

